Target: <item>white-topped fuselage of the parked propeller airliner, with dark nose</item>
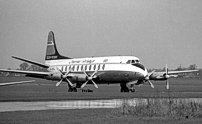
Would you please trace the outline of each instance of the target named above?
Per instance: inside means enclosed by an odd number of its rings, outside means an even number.
[[[98,71],[99,83],[120,83],[142,80],[147,75],[147,69],[140,63],[139,58],[134,56],[109,56],[109,57],[90,57],[63,60],[48,60],[49,71],[63,73],[70,71],[68,76],[76,77],[84,75],[84,71],[91,75]]]

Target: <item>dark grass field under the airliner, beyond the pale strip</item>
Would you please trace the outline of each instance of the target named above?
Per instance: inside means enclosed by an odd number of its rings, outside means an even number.
[[[0,77],[0,82],[32,80],[24,77]],[[171,79],[170,90],[166,90],[165,81],[153,81],[152,89],[147,83],[136,86],[137,92],[120,93],[119,84],[87,85],[93,92],[67,92],[67,84],[37,79],[36,82],[15,86],[0,87],[0,101],[49,101],[49,100],[82,100],[82,99],[119,99],[119,98],[202,98],[201,79]]]

